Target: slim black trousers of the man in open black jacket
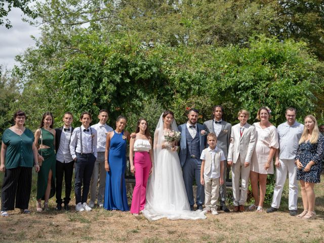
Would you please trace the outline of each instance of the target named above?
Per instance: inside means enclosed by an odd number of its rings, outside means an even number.
[[[72,190],[72,176],[73,176],[73,165],[74,160],[69,163],[62,163],[56,160],[56,203],[57,204],[68,204],[71,200]],[[63,175],[65,181],[65,197],[62,200],[62,182]]]

